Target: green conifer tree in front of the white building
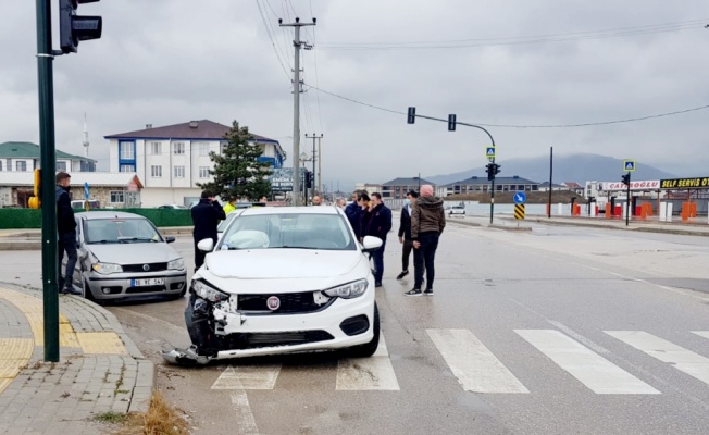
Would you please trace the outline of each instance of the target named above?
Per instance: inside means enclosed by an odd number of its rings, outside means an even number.
[[[209,171],[213,182],[197,183],[203,190],[210,190],[228,201],[229,198],[258,200],[271,196],[271,163],[260,162],[261,147],[253,140],[249,127],[239,127],[234,121],[232,128],[224,134],[226,144],[222,153],[210,152],[214,169]]]

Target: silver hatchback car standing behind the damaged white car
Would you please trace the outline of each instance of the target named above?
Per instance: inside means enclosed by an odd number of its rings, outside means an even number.
[[[133,296],[183,297],[187,270],[152,222],[125,212],[76,213],[74,285],[91,300]]]

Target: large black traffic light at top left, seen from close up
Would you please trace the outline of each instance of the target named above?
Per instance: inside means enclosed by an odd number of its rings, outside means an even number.
[[[79,4],[97,1],[100,0],[59,0],[59,46],[63,53],[75,53],[79,41],[101,37],[100,16],[76,15]]]

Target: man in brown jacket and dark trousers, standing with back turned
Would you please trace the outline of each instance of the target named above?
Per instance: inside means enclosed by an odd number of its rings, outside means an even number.
[[[407,296],[421,296],[423,270],[426,270],[426,289],[424,295],[433,296],[433,279],[435,276],[434,260],[438,248],[438,238],[446,227],[446,213],[443,199],[433,195],[433,186],[421,186],[421,197],[416,199],[411,212],[411,240],[413,240],[413,288]]]

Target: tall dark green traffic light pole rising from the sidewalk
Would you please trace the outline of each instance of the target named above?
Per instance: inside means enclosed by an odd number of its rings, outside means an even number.
[[[36,0],[39,145],[41,165],[41,276],[45,315],[45,361],[59,361],[59,289],[57,206],[54,200],[54,88],[51,0]]]

